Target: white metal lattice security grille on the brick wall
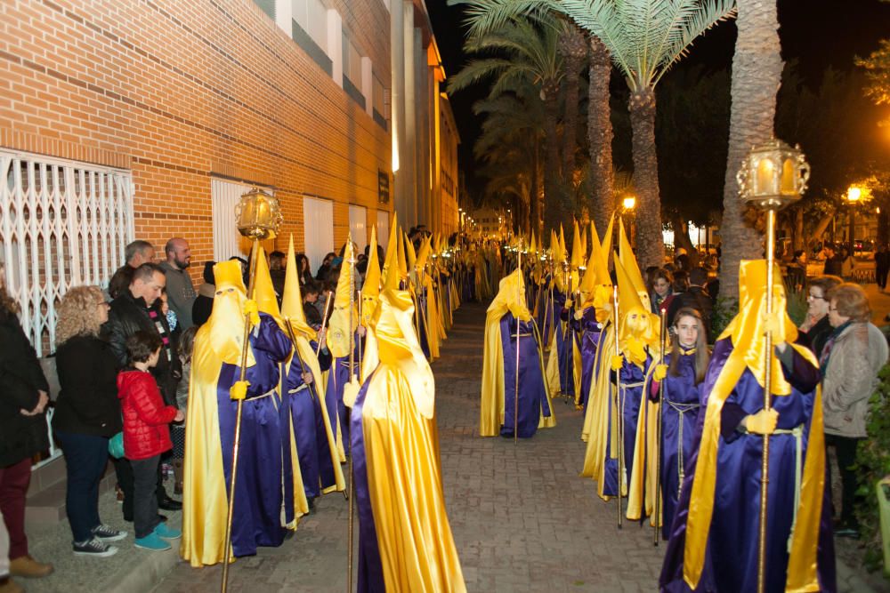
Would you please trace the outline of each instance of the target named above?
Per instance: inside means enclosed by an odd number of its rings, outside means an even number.
[[[71,286],[105,287],[133,240],[125,170],[0,150],[0,240],[7,292],[37,356],[55,349],[55,308]]]

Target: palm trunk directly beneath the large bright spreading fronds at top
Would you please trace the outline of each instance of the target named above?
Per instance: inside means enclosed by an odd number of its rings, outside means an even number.
[[[655,154],[655,92],[651,86],[630,93],[633,132],[634,187],[636,188],[636,260],[640,269],[664,265],[661,234],[659,162]]]

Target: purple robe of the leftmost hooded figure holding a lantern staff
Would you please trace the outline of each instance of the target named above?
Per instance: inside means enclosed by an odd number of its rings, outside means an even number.
[[[247,399],[241,405],[241,438],[231,547],[235,556],[252,556],[257,546],[279,546],[281,526],[282,443],[279,422],[279,363],[290,353],[290,340],[271,317],[260,314],[260,324],[250,333],[256,364],[247,368]],[[239,366],[223,363],[216,387],[220,440],[226,491],[231,487],[232,445],[235,440],[237,402],[229,389],[239,380]],[[293,514],[293,505],[289,505]]]

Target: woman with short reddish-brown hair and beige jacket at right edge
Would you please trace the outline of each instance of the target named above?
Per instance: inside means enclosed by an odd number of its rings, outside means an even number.
[[[856,446],[867,437],[865,418],[878,384],[878,371],[887,361],[884,334],[869,323],[868,297],[858,284],[839,284],[829,292],[828,318],[833,331],[821,351],[822,400],[825,403],[825,443],[835,447],[841,481],[840,525],[835,534],[858,539],[854,515],[858,480],[853,464]]]

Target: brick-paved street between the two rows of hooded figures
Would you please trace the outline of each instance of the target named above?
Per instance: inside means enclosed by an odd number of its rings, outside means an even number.
[[[433,365],[445,495],[467,589],[657,590],[664,544],[653,547],[648,527],[617,530],[614,503],[600,501],[595,484],[578,477],[585,445],[573,406],[556,401],[557,427],[518,445],[477,436],[484,316],[478,304],[460,309]],[[318,501],[283,546],[231,565],[229,590],[344,591],[347,509],[340,494]],[[874,590],[838,568],[840,590]],[[179,562],[153,590],[214,591],[220,576],[219,567]]]

